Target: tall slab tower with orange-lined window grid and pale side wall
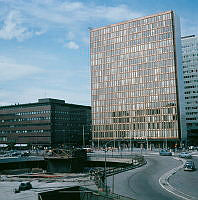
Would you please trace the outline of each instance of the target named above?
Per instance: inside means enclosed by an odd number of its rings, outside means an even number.
[[[185,140],[181,58],[173,11],[90,31],[95,145]]]

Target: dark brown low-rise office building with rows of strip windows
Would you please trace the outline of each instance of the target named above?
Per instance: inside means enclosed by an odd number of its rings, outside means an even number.
[[[82,146],[91,134],[91,107],[64,100],[0,107],[0,144]]]

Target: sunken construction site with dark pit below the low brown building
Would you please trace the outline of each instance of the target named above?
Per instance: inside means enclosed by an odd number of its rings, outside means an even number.
[[[0,192],[9,199],[129,199],[114,194],[107,177],[145,164],[143,156],[82,149],[0,159]],[[31,185],[31,186],[30,186]],[[94,197],[95,196],[95,197]]]

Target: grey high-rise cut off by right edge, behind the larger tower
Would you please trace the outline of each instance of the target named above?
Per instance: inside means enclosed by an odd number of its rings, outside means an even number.
[[[182,38],[182,56],[188,143],[198,145],[198,37]]]

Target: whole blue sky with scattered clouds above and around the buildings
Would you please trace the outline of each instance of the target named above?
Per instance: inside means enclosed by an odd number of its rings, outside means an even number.
[[[0,0],[0,106],[90,105],[89,27],[175,10],[198,34],[197,0]]]

